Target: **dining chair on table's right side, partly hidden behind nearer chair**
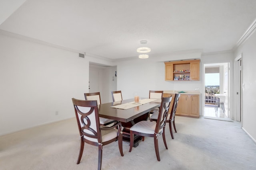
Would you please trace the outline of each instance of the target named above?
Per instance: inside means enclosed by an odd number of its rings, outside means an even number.
[[[174,131],[177,133],[176,127],[175,127],[175,113],[176,113],[176,109],[177,109],[177,106],[178,106],[179,98],[180,98],[180,94],[175,94],[174,102],[172,104],[172,110],[168,114],[167,119],[166,119],[166,123],[169,123],[169,129],[170,129],[172,139],[174,139],[174,136],[173,136],[173,133],[172,133],[172,124],[173,124],[173,127],[174,127]],[[157,118],[158,118],[158,112],[155,112],[151,115],[150,121],[157,121]]]

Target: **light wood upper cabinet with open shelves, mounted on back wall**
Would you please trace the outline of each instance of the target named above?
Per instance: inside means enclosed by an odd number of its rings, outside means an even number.
[[[166,81],[200,80],[200,60],[172,61],[164,64]]]

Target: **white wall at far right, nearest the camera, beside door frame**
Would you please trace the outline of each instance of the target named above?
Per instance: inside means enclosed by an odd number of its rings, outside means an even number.
[[[234,57],[242,53],[242,125],[256,142],[256,33],[254,32],[238,49]]]

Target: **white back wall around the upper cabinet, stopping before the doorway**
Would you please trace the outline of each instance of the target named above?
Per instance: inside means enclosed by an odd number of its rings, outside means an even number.
[[[122,90],[123,99],[133,98],[134,93],[139,93],[141,97],[148,97],[149,90],[195,90],[196,88],[203,90],[201,80],[191,82],[165,81],[164,75],[164,61],[200,59],[200,57],[201,53],[192,51],[150,56],[148,59],[134,58],[133,60],[118,61],[116,62],[118,70],[117,89]]]

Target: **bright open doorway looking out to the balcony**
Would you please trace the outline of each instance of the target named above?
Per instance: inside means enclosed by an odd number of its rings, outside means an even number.
[[[204,117],[230,119],[230,63],[204,64]]]

